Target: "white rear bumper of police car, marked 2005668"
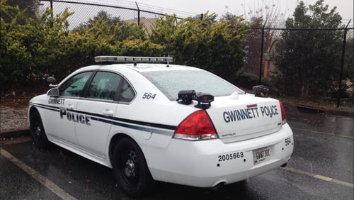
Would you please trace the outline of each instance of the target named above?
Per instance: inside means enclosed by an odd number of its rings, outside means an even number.
[[[289,140],[291,141],[289,143]],[[285,164],[294,148],[292,130],[285,124],[276,133],[235,143],[221,140],[172,139],[166,148],[143,149],[152,177],[193,187],[230,184]],[[253,150],[268,147],[268,160],[255,165]]]

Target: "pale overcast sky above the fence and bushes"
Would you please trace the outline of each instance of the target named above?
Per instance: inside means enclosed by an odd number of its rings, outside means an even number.
[[[119,2],[119,0],[116,0]],[[127,1],[127,0],[126,0]],[[277,7],[279,13],[286,16],[292,16],[298,2],[297,0],[135,0],[137,4],[148,4],[151,6],[158,6],[166,9],[173,9],[176,11],[183,11],[188,13],[217,13],[219,16],[226,13],[234,13],[241,15],[248,13],[250,10],[254,11],[261,8],[262,5]],[[316,0],[304,0],[304,3],[314,4]],[[324,4],[328,4],[329,8],[337,7],[338,13],[341,14],[343,21],[348,23],[352,19],[353,23],[353,0],[325,0]],[[161,9],[161,11],[164,11]]]

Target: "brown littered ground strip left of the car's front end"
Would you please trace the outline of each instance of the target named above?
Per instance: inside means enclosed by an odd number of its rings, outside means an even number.
[[[8,130],[18,130],[23,128],[29,128],[28,106],[11,107],[0,106],[0,133]]]

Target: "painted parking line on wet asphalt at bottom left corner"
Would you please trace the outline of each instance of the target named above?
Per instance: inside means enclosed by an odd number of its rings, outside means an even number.
[[[15,165],[20,167],[23,171],[25,171],[27,174],[29,174],[31,177],[33,177],[33,179],[36,179],[42,185],[47,187],[47,189],[50,189],[52,192],[57,194],[57,196],[59,196],[60,198],[62,198],[62,199],[76,199],[76,198],[74,198],[74,196],[71,196],[66,191],[64,191],[59,186],[57,186],[57,184],[51,182],[49,179],[45,178],[40,173],[33,170],[28,165],[25,165],[24,162],[22,162],[21,160],[18,160],[16,157],[11,155],[9,152],[4,150],[3,148],[0,148],[0,154],[4,155],[4,157],[6,157],[8,160],[13,162]]]

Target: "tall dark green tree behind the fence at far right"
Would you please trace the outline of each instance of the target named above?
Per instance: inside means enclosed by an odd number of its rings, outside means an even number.
[[[300,1],[293,18],[287,18],[286,28],[273,56],[275,85],[284,94],[300,97],[318,96],[338,79],[341,53],[341,32],[338,30],[301,30],[338,28],[341,16],[336,7],[329,11],[324,0],[307,8]]]

